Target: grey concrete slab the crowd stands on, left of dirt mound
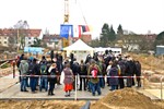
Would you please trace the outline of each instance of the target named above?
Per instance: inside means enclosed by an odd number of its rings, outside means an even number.
[[[71,92],[70,97],[65,97],[63,86],[56,86],[54,93],[55,96],[48,96],[48,93],[43,92],[36,92],[35,94],[31,93],[31,89],[27,88],[27,93],[20,92],[20,83],[15,84],[14,86],[5,89],[4,92],[0,93],[0,99],[90,99],[90,100],[96,100],[102,97],[104,97],[106,94],[108,94],[109,89],[108,87],[102,89],[102,95],[95,95],[92,96],[92,94],[87,90],[78,90],[77,92],[77,98],[75,98],[75,92]]]

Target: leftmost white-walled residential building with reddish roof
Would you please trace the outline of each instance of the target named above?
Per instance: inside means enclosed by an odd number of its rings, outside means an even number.
[[[42,38],[42,29],[13,29],[13,28],[1,28],[0,29],[0,45],[1,46],[16,46],[17,37],[25,37],[25,47],[34,45],[35,38]]]

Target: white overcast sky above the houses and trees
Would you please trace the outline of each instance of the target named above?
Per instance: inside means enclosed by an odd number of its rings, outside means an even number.
[[[11,27],[17,21],[27,21],[31,28],[60,32],[63,23],[65,0],[1,0],[0,28]],[[92,26],[97,37],[104,23],[119,24],[138,34],[159,34],[164,31],[164,0],[69,0],[70,24]]]

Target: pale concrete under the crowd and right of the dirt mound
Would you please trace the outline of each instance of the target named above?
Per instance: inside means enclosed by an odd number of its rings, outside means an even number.
[[[17,74],[19,72],[16,72]],[[105,95],[107,95],[110,90],[109,87],[106,86],[105,88],[102,88],[102,95],[98,96],[92,96],[92,94],[90,92],[85,92],[85,90],[78,90],[77,92],[77,96],[75,96],[75,92],[71,93],[70,97],[65,97],[65,92],[63,92],[63,86],[62,85],[56,85],[55,88],[55,96],[48,96],[47,92],[37,92],[35,94],[31,93],[31,89],[27,88],[30,92],[24,93],[24,92],[20,92],[20,83],[19,82],[19,76],[16,76],[15,78],[13,78],[13,75],[10,74],[8,76],[4,77],[0,77],[0,99],[60,99],[60,100],[97,100],[102,97],[104,97]],[[143,88],[134,88],[137,92],[144,94],[145,96],[150,97],[151,99],[157,100],[161,97],[161,93],[159,90],[152,90],[151,92],[149,89],[143,89]],[[156,93],[154,93],[156,92]],[[157,95],[156,95],[157,94]]]

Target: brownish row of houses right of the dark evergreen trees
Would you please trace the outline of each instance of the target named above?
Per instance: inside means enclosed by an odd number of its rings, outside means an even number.
[[[121,47],[128,51],[139,51],[143,49],[151,49],[155,39],[156,34],[129,34],[118,37],[115,41],[115,47]]]

